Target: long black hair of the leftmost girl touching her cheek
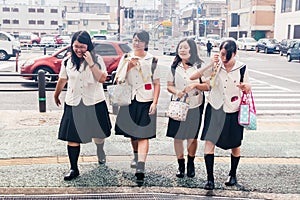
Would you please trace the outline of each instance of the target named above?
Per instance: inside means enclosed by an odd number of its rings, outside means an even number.
[[[82,44],[86,44],[88,46],[87,51],[91,52],[94,62],[97,62],[95,53],[93,51],[94,45],[92,43],[90,34],[86,31],[78,31],[78,32],[74,33],[74,35],[72,36],[72,40],[71,40],[71,53],[72,53],[71,61],[75,65],[77,71],[80,68],[80,63],[82,61],[82,58],[78,58],[76,56],[76,53],[73,50],[73,44],[75,41],[78,41]]]

